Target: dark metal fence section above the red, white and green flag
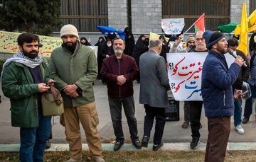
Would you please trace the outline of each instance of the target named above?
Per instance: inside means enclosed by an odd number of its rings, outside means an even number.
[[[186,31],[206,13],[206,29],[216,30],[216,26],[230,23],[230,1],[227,0],[162,0],[162,18],[185,18]],[[188,30],[193,33],[194,28]]]

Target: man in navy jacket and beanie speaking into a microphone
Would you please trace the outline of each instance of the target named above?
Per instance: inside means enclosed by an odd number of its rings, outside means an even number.
[[[228,42],[223,33],[206,30],[203,37],[209,50],[203,63],[201,86],[208,118],[205,161],[224,161],[230,134],[230,116],[234,113],[232,85],[245,61],[238,56],[228,68],[224,57],[228,52]],[[241,91],[235,92],[236,97],[240,94]]]

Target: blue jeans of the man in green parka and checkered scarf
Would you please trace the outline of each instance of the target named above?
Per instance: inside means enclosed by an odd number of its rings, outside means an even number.
[[[20,161],[43,161],[43,152],[46,149],[46,141],[50,136],[51,117],[43,117],[38,114],[38,127],[21,127]]]

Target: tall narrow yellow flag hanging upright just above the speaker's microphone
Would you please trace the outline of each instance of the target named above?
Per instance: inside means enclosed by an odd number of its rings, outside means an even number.
[[[242,16],[241,16],[241,30],[238,50],[248,54],[248,21],[247,21],[247,12],[246,12],[246,3],[242,5]]]

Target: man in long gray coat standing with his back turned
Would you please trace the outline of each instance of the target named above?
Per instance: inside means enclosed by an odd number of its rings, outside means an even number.
[[[165,108],[169,105],[167,91],[170,86],[164,57],[159,56],[161,48],[161,40],[151,40],[149,51],[142,54],[139,59],[141,81],[139,103],[144,104],[146,112],[142,146],[148,145],[154,117],[156,117],[153,151],[163,146],[161,139],[166,122]]]

